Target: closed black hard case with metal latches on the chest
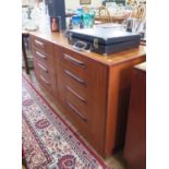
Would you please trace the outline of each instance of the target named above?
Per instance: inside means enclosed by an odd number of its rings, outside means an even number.
[[[102,27],[69,29],[67,35],[69,43],[76,49],[81,50],[81,47],[85,46],[85,49],[101,55],[137,48],[141,40],[141,35],[137,33]]]

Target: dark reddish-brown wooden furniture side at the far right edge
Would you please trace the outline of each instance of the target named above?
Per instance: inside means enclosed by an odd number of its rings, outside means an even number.
[[[128,169],[146,169],[146,70],[140,67],[135,67],[132,72],[132,90],[123,152]]]

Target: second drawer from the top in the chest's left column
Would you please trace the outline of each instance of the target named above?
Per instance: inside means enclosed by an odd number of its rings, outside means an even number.
[[[37,60],[40,60],[45,64],[52,64],[53,63],[53,57],[52,56],[48,56],[47,53],[44,53],[36,48],[32,48],[32,51],[33,51],[34,58]]]

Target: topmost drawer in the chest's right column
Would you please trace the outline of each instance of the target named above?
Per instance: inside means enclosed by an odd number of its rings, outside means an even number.
[[[86,79],[87,61],[86,58],[65,48],[61,48],[59,63],[74,71],[79,76]]]

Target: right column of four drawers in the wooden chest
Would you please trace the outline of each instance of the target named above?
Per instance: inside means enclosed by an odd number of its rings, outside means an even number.
[[[59,79],[60,98],[73,119],[83,130],[88,120],[87,111],[87,62],[74,51],[60,48]]]

